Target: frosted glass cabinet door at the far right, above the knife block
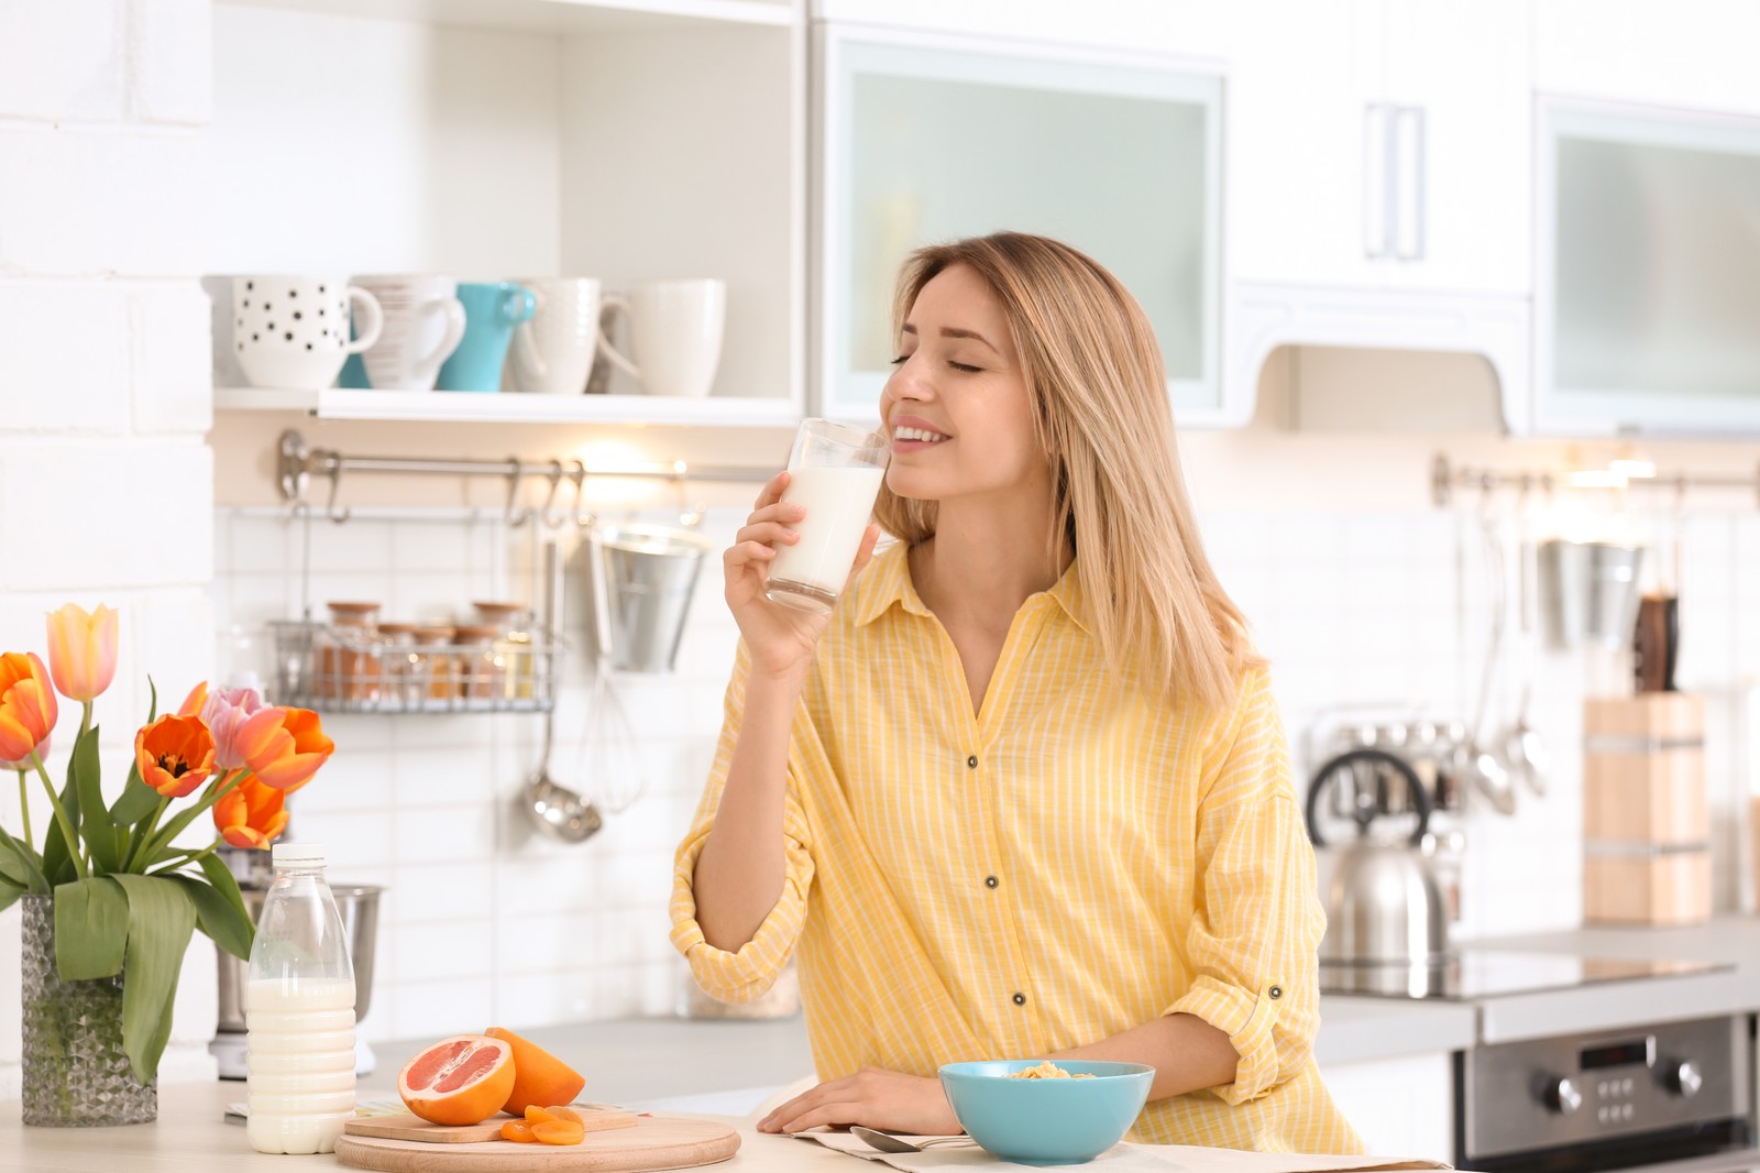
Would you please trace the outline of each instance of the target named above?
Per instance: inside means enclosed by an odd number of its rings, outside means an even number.
[[[1547,102],[1542,432],[1760,432],[1760,120]]]

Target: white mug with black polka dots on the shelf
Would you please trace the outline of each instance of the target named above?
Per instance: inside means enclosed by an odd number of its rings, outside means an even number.
[[[348,340],[348,310],[361,310]],[[234,277],[232,352],[255,387],[322,391],[341,365],[378,342],[385,315],[347,277]]]

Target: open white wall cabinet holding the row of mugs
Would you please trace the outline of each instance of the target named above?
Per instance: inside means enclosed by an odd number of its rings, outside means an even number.
[[[213,273],[727,282],[713,393],[259,393],[334,417],[787,423],[806,402],[804,0],[215,5]],[[549,400],[549,402],[533,402]]]

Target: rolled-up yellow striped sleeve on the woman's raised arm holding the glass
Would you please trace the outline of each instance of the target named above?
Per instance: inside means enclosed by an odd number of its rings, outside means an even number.
[[[744,641],[741,641],[734,676],[727,685],[725,719],[715,749],[715,764],[709,770],[697,815],[678,847],[672,867],[672,946],[685,955],[702,992],[722,1002],[750,1002],[771,988],[801,935],[801,925],[806,921],[806,898],[813,886],[811,833],[801,803],[799,761],[790,750],[788,789],[783,807],[787,870],[776,905],[759,925],[752,941],[732,953],[711,946],[697,923],[693,888],[697,859],[702,856],[702,845],[715,828],[715,814],[722,805],[734,743],[739,740],[748,671],[750,657]]]

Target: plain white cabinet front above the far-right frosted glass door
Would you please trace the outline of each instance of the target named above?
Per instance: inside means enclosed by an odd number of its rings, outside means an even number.
[[[1535,0],[1535,88],[1760,114],[1751,0]]]

